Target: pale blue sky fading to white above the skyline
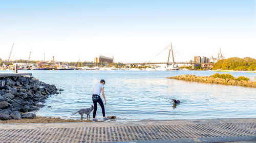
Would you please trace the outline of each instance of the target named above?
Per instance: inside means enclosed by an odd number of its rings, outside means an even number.
[[[255,0],[4,1],[0,58],[7,60],[175,62],[194,56],[256,59]]]

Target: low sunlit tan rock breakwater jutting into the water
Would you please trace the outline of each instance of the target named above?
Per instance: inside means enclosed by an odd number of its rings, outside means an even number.
[[[177,75],[173,77],[167,77],[170,79],[178,79],[185,81],[196,81],[196,82],[204,82],[204,83],[216,83],[216,84],[226,84],[226,85],[240,85],[245,87],[256,88],[256,81],[245,81],[245,80],[234,80],[229,78],[215,78],[209,76],[195,76],[190,74]]]

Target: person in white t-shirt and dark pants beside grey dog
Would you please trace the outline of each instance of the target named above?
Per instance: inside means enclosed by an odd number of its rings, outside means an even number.
[[[106,98],[105,98],[105,94],[104,94],[104,85],[105,85],[105,80],[101,79],[100,82],[95,84],[94,88],[93,88],[93,96],[92,96],[92,100],[93,100],[93,104],[94,104],[93,122],[98,121],[97,119],[95,119],[96,112],[97,112],[97,103],[99,103],[99,105],[101,107],[103,121],[108,120],[108,118],[105,117],[105,108],[103,105],[103,101],[100,98],[100,93],[102,93],[102,96],[105,100],[105,105],[106,105]]]

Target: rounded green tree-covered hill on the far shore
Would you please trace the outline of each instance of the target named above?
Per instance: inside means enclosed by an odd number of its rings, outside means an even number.
[[[245,57],[229,58],[218,61],[214,65],[214,70],[256,70],[256,59]]]

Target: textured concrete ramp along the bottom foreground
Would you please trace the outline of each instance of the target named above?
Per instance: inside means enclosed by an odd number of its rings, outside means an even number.
[[[256,140],[256,119],[0,124],[0,142],[230,142]]]

